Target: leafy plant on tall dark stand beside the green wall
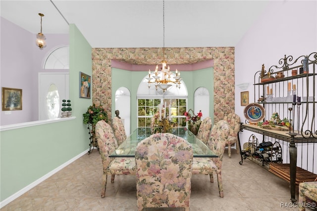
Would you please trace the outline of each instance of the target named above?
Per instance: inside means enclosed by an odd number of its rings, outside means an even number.
[[[95,104],[93,104],[92,106],[88,107],[86,113],[83,113],[83,117],[83,123],[88,124],[88,133],[90,135],[90,149],[88,153],[90,154],[92,152],[92,147],[97,147],[97,149],[99,150],[95,135],[95,126],[100,120],[105,120],[106,122],[108,122],[108,115],[103,106],[96,106]]]

